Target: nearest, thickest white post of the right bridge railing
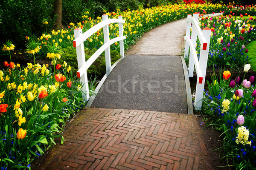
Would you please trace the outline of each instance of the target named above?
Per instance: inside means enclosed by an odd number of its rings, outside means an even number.
[[[202,99],[204,95],[204,83],[205,83],[205,74],[206,74],[206,68],[207,68],[207,60],[208,60],[208,53],[209,53],[209,44],[210,44],[210,38],[211,38],[211,29],[210,28],[204,28],[203,29],[203,36],[207,42],[206,49],[205,44],[201,44],[201,50],[200,50],[200,58],[199,58],[199,69],[202,71],[203,75],[203,83],[199,84],[199,77],[197,79],[196,89],[195,89],[195,110],[201,110],[202,107]],[[203,50],[203,48],[205,50]]]

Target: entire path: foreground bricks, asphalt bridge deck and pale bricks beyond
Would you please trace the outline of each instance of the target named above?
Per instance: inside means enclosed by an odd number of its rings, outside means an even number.
[[[182,57],[179,56],[182,54],[184,33],[185,19],[167,23],[146,33],[113,69],[111,74],[116,74],[115,77],[109,75],[105,81],[109,83],[105,83],[105,91],[103,89],[92,103],[93,106],[98,107],[99,99],[104,98],[102,102],[106,102],[107,105],[100,105],[102,109],[99,107],[84,108],[79,111],[63,134],[64,144],[61,145],[58,142],[39,169],[212,169],[196,117],[188,114],[187,101],[184,100],[184,105],[181,106],[175,105],[176,103],[173,103],[175,106],[171,106],[168,101],[172,98],[185,99],[186,95],[182,96],[181,93],[186,94],[186,89],[190,88],[185,85],[186,71],[179,70],[177,73],[172,70],[175,64],[178,65],[177,68],[186,70],[183,67]],[[155,68],[152,67],[153,63]],[[138,71],[137,68],[140,70]],[[148,73],[154,69],[161,71],[155,71],[157,74],[151,74],[150,77]],[[121,75],[121,72],[125,74],[120,77],[118,75]],[[137,80],[142,79],[142,81],[153,77],[153,80],[156,80],[154,82],[160,81],[160,85],[163,85],[161,84],[163,83],[161,82],[163,79],[161,74],[166,79],[171,79],[172,83],[175,83],[176,80],[170,76],[178,75],[181,77],[183,74],[183,77],[178,79],[179,81],[183,79],[183,89],[180,93],[175,94],[175,90],[173,90],[171,94],[160,95],[163,99],[158,99],[158,102],[152,100],[152,105],[156,103],[161,106],[157,108],[158,106],[154,105],[156,108],[150,108],[149,101],[143,101],[142,104],[137,103],[139,103],[139,99],[151,98],[154,91],[148,90],[148,95],[140,93],[138,90],[144,91],[144,88],[137,85],[136,79],[134,79],[134,84],[129,81],[122,82],[121,84],[127,85],[125,87],[121,85],[121,91],[124,93],[113,98],[111,92],[119,94],[118,83],[121,81],[119,79],[133,80],[133,77],[128,77],[129,74],[137,76]],[[130,86],[129,83],[131,83]],[[137,86],[138,88],[136,88]],[[165,84],[164,87],[166,88],[166,86]],[[155,88],[154,84],[151,88]],[[160,89],[159,91],[163,90]],[[132,96],[136,94],[138,94],[137,96],[144,96],[133,101],[137,105],[126,105],[126,103],[131,103]],[[157,96],[157,94],[154,95]],[[122,96],[123,98],[121,98]],[[163,103],[160,102],[161,100]],[[118,106],[116,109],[114,109],[116,105],[112,105],[115,101],[119,101],[116,104]],[[167,106],[164,104],[165,102]],[[143,104],[146,104],[144,109]],[[126,106],[127,108],[125,108]],[[137,109],[135,106],[141,107]],[[176,108],[176,110],[169,108]],[[183,109],[182,112],[179,110],[181,108]]]

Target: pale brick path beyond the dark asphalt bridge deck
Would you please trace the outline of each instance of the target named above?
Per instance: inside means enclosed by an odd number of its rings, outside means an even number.
[[[186,18],[166,23],[145,33],[126,55],[180,56],[183,51]]]

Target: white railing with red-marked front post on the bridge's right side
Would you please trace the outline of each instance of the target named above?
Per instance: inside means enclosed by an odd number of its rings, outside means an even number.
[[[194,72],[194,65],[195,71],[197,74],[197,83],[195,89],[195,110],[201,110],[202,107],[202,99],[204,94],[204,83],[205,83],[205,73],[207,68],[207,59],[209,53],[209,43],[211,37],[211,29],[204,28],[203,31],[201,30],[200,26],[198,25],[199,14],[195,12],[193,14],[193,18],[191,14],[188,14],[186,19],[186,36],[184,39],[186,40],[185,44],[185,57],[188,57],[189,54],[189,77],[193,77]],[[191,31],[191,39],[190,39],[190,30],[191,30],[191,23],[192,23],[192,31]],[[197,37],[199,38],[201,44],[200,50],[200,57],[198,61],[198,56],[195,51],[196,40]],[[190,47],[190,53],[189,53]]]

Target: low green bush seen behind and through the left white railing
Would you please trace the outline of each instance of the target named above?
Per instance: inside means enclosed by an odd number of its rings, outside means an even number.
[[[62,51],[64,55],[60,59],[60,63],[64,61],[67,62],[68,65],[72,66],[73,73],[78,71],[77,65],[77,57],[76,57],[76,49],[67,47],[63,48]],[[95,52],[97,51],[96,48],[89,50],[84,50],[85,60],[87,61]],[[113,65],[119,58],[120,54],[116,50],[110,51],[111,53],[111,65]],[[87,74],[91,75],[94,74],[96,76],[103,76],[106,73],[106,62],[105,62],[105,54],[102,53],[93,64],[88,68]]]

